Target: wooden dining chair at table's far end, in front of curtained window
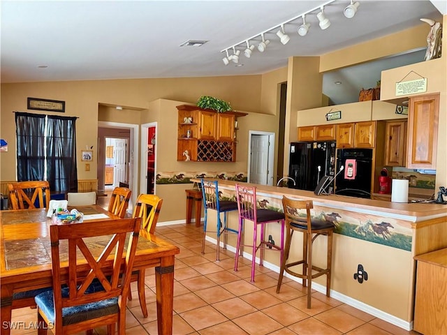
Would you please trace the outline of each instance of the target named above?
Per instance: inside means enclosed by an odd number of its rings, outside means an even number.
[[[8,184],[13,209],[48,208],[50,183],[48,181],[17,181]]]

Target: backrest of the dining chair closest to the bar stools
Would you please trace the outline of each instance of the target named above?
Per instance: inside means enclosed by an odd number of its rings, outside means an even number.
[[[142,228],[154,234],[163,199],[154,194],[138,195],[133,218],[142,218]]]

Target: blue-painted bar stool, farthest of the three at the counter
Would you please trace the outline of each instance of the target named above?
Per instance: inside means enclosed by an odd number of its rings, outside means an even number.
[[[205,253],[205,238],[207,236],[207,218],[208,210],[213,209],[217,211],[217,230],[216,232],[216,260],[219,261],[219,251],[220,251],[220,239],[221,234],[223,234],[223,248],[226,249],[226,244],[228,241],[228,232],[233,232],[237,234],[238,230],[233,228],[228,228],[227,217],[228,211],[237,210],[237,202],[229,200],[220,200],[219,187],[217,181],[204,181],[200,180],[202,185],[202,197],[203,197],[203,208],[205,221],[203,222],[203,240],[202,240],[202,253]],[[223,213],[223,225],[221,221],[221,213]],[[199,219],[200,220],[200,219]]]

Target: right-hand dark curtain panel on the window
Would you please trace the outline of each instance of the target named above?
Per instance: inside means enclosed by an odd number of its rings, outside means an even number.
[[[78,192],[76,119],[48,115],[47,180],[52,191]]]

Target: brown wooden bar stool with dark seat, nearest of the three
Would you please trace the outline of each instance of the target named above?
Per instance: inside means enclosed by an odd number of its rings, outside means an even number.
[[[286,245],[284,246],[284,259],[281,262],[281,269],[279,270],[279,278],[277,285],[277,293],[281,288],[282,278],[284,271],[292,276],[302,278],[302,285],[306,286],[307,283],[307,308],[311,308],[311,290],[312,279],[326,275],[326,296],[330,295],[330,274],[332,265],[332,233],[334,232],[334,224],[325,220],[316,220],[311,217],[310,210],[314,207],[312,200],[293,200],[283,196],[282,204],[284,208],[284,214],[286,215]],[[300,216],[300,209],[306,210],[305,216]],[[288,260],[288,256],[291,250],[291,241],[294,231],[303,233],[302,241],[302,260]],[[312,264],[312,244],[315,239],[325,235],[328,237],[328,260],[327,267],[323,269],[316,267]],[[298,274],[291,269],[296,265],[302,264],[302,274]],[[316,273],[312,274],[312,271]]]

